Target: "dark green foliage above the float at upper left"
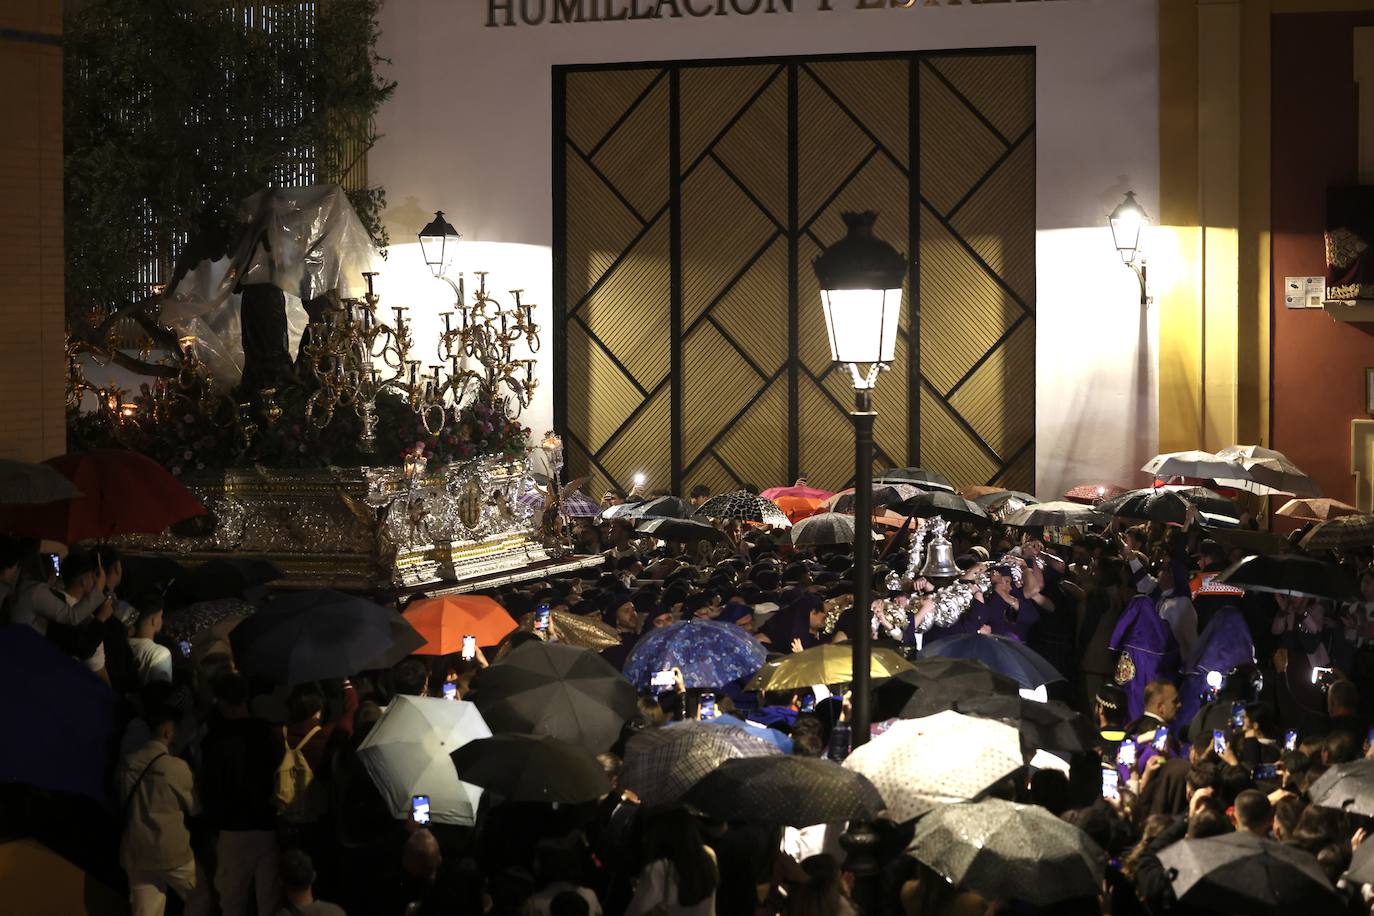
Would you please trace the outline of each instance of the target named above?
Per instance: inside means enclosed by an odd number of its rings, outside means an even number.
[[[394,88],[378,76],[381,3],[92,0],[67,18],[71,314],[148,295],[187,238],[228,239],[265,185],[344,184],[386,243],[385,195],[359,180]]]

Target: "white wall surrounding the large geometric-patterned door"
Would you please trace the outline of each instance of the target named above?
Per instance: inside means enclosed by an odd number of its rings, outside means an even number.
[[[522,246],[492,266],[489,283],[530,290],[547,323],[554,65],[1033,45],[1037,489],[1050,497],[1079,482],[1140,481],[1136,468],[1157,439],[1156,323],[1139,309],[1105,217],[1127,188],[1157,209],[1156,0],[857,3],[831,0],[830,12],[816,10],[820,0],[794,0],[791,14],[491,29],[486,0],[390,0],[381,54],[398,85],[378,119],[385,137],[368,169],[386,188],[392,238],[414,239],[442,207],[467,239]],[[393,258],[383,297],[396,283],[416,312],[447,305],[447,287],[408,276],[415,258]],[[552,420],[547,356],[540,371],[544,385],[526,412],[536,434]]]

